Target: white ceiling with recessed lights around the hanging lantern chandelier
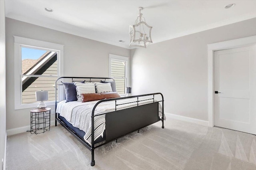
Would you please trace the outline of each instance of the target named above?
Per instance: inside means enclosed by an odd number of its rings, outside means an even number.
[[[224,8],[231,3],[236,5]],[[8,18],[125,48],[139,6],[153,27],[153,43],[256,17],[256,0],[5,0],[5,5]]]

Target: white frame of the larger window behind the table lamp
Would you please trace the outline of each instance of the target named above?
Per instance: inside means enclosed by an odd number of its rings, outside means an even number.
[[[31,75],[28,77],[62,77],[63,76],[63,57],[64,57],[64,45],[57,43],[44,42],[40,40],[33,40],[29,38],[23,38],[14,36],[14,109],[27,109],[33,108],[38,105],[36,103],[22,104],[22,56],[21,56],[21,48],[28,47],[32,49],[43,49],[46,51],[54,51],[57,53],[57,61],[58,61],[58,75],[50,76],[50,75]],[[62,87],[60,87],[62,88]],[[60,90],[61,92],[62,90]],[[58,94],[58,100],[62,100],[64,97],[62,94]],[[47,106],[55,105],[55,101],[45,101]]]

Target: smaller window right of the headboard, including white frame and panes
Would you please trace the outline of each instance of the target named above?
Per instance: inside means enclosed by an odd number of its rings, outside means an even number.
[[[128,86],[129,58],[119,55],[109,55],[110,77],[116,81],[116,91],[119,94],[125,93],[125,87]]]

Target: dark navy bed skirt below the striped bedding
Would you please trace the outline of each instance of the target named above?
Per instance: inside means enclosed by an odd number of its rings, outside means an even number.
[[[85,132],[83,130],[80,130],[79,128],[77,127],[74,127],[71,123],[69,123],[64,117],[60,116],[60,114],[58,113],[58,118],[66,124],[67,127],[69,127],[71,130],[73,130],[77,136],[79,136],[82,140],[84,140],[84,135],[85,135]],[[104,133],[103,133],[103,138],[100,136],[98,137],[98,139],[95,140],[95,143],[98,143],[98,142],[102,142],[105,140],[105,136],[106,136],[106,130],[104,130]]]

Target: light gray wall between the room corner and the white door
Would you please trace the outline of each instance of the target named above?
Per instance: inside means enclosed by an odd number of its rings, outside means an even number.
[[[133,49],[133,94],[161,92],[166,113],[208,121],[207,44],[255,35],[253,18]]]

